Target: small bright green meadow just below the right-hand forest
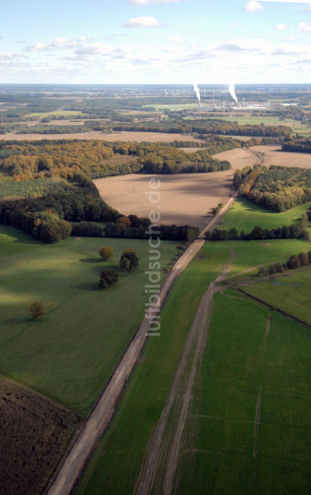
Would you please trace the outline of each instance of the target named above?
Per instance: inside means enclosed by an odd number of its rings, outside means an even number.
[[[263,229],[277,229],[286,225],[299,225],[303,214],[311,203],[301,204],[291,210],[282,213],[273,213],[258,204],[244,198],[237,198],[229,211],[224,215],[219,229],[230,230],[236,228],[240,233],[244,230],[246,234],[259,225]],[[311,232],[311,224],[308,225]]]

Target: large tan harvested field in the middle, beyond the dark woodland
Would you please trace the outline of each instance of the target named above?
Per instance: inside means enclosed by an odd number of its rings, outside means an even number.
[[[195,148],[186,149],[192,152]],[[226,153],[230,156],[227,157]],[[189,224],[204,228],[211,218],[211,208],[225,203],[231,196],[233,171],[258,162],[255,153],[249,149],[233,149],[214,156],[231,161],[232,170],[156,176],[161,182],[160,222],[163,225]],[[102,198],[124,215],[135,213],[148,217],[153,204],[145,192],[151,191],[148,181],[152,177],[147,174],[119,175],[96,179],[94,183]]]

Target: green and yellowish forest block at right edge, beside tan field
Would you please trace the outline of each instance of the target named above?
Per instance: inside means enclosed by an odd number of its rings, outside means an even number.
[[[311,169],[255,165],[236,170],[233,185],[245,197],[272,211],[311,201]]]

